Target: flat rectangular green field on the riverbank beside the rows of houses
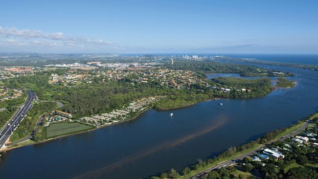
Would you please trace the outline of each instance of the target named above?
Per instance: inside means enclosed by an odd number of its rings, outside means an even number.
[[[45,128],[46,138],[51,138],[54,136],[74,134],[81,131],[87,131],[93,129],[92,126],[77,123],[77,122],[63,122],[50,124],[49,127]]]

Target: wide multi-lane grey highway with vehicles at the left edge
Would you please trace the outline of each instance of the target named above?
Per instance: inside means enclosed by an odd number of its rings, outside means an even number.
[[[35,92],[28,90],[26,91],[26,93],[27,98],[23,106],[19,109],[18,112],[14,114],[11,120],[8,121],[5,127],[3,127],[0,131],[0,149],[4,146],[5,142],[11,136],[13,131],[19,126],[20,122],[23,120],[27,112],[30,111],[30,109],[32,108],[32,101],[38,99]]]

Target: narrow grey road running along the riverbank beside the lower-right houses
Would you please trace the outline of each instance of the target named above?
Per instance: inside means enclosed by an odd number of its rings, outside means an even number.
[[[289,134],[286,134],[286,135],[284,135],[284,136],[282,136],[282,137],[280,137],[280,138],[278,138],[278,139],[274,139],[274,140],[272,140],[271,142],[267,143],[266,145],[271,144],[271,143],[273,143],[273,142],[275,142],[275,141],[277,141],[277,140],[285,140],[285,139],[287,139],[287,138],[290,138],[291,136],[294,136],[294,135],[296,135],[296,134],[299,134],[299,133],[301,133],[302,131],[304,131],[305,128],[306,128],[309,124],[310,124],[310,123],[305,122],[305,124],[302,125],[300,128],[298,128],[297,130],[295,130],[295,131],[293,131],[293,132],[291,132],[291,133],[289,133]],[[238,157],[235,157],[235,158],[232,158],[232,159],[230,159],[230,160],[226,160],[226,161],[224,161],[224,162],[222,162],[222,163],[219,163],[217,166],[214,166],[214,167],[212,167],[212,168],[206,169],[206,170],[204,170],[204,171],[198,173],[196,176],[191,177],[190,179],[200,179],[201,176],[205,175],[206,173],[208,173],[208,172],[210,172],[210,171],[212,171],[212,170],[215,170],[215,169],[219,169],[219,168],[222,168],[222,167],[226,167],[226,166],[232,165],[232,164],[234,164],[234,163],[236,162],[236,160],[242,160],[244,157],[249,157],[249,156],[252,156],[252,155],[256,154],[257,151],[260,150],[261,148],[263,148],[264,146],[265,146],[265,145],[261,145],[260,147],[254,149],[253,151],[250,151],[249,153],[242,154],[242,155],[240,155],[240,156],[238,156]]]

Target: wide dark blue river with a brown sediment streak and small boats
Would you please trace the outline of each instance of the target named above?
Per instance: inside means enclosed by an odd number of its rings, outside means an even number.
[[[297,76],[289,79],[297,86],[262,98],[148,110],[125,123],[3,152],[0,178],[140,179],[181,171],[318,110],[317,71],[253,65],[293,72]]]

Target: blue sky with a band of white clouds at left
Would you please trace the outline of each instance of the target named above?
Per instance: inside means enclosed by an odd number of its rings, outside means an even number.
[[[318,53],[318,0],[3,0],[0,52]]]

